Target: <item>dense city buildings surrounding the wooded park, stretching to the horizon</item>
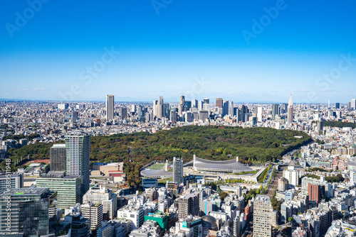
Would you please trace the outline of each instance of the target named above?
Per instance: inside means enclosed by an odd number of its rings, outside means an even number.
[[[290,95],[288,104],[184,96],[179,103],[162,97],[117,103],[110,94],[105,103],[2,101],[0,213],[5,221],[0,231],[11,236],[353,236],[355,101],[293,104]],[[187,126],[271,128],[276,136],[300,131],[305,143],[267,163],[231,154],[224,160],[197,155],[150,160],[133,184],[127,182],[126,160],[95,162],[90,156],[93,137],[154,135]],[[39,143],[51,145],[49,157],[11,156]]]

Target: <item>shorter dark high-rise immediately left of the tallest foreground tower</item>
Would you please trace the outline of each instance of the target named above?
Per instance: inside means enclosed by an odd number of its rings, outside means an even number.
[[[66,144],[53,144],[50,149],[51,171],[67,170]]]

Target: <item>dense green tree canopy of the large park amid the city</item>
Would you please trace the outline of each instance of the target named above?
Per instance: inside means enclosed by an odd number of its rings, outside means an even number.
[[[302,136],[303,138],[296,138]],[[91,138],[90,163],[125,161],[129,184],[140,183],[140,169],[152,160],[184,158],[193,155],[208,160],[239,156],[244,163],[276,161],[290,150],[309,143],[306,133],[274,128],[183,126],[157,133],[115,134]],[[49,158],[51,143],[36,143],[10,150],[11,160],[28,154],[30,160]]]

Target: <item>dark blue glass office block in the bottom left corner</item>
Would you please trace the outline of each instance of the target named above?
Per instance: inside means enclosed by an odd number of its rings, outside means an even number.
[[[0,234],[48,235],[48,206],[53,199],[51,191],[43,188],[9,189],[0,192]]]

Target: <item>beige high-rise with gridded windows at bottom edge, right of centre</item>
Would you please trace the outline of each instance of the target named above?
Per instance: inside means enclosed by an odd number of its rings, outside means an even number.
[[[272,236],[273,208],[268,196],[256,195],[253,201],[253,237]]]

